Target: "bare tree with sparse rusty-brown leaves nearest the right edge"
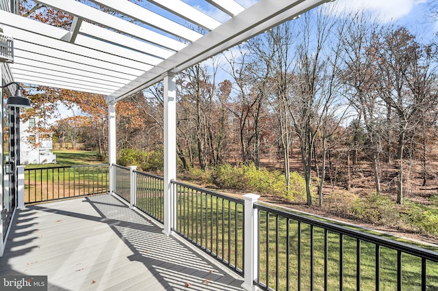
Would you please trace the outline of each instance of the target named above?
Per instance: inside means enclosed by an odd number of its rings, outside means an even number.
[[[397,203],[402,204],[404,192],[404,150],[407,133],[419,122],[420,111],[428,109],[434,100],[426,98],[430,89],[429,66],[424,66],[426,48],[422,48],[407,29],[384,29],[380,37],[376,35],[375,63],[379,83],[377,92],[386,104],[394,109],[397,117],[395,129],[398,136],[396,170]],[[430,56],[428,57],[430,59]],[[422,63],[423,62],[423,63]],[[430,63],[429,63],[430,64]]]

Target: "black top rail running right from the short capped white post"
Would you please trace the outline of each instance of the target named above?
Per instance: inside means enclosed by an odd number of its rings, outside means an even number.
[[[272,208],[270,206],[266,206],[263,204],[255,204],[254,208],[259,210],[263,210],[266,212],[270,212],[272,214],[276,214],[285,218],[294,219],[296,221],[300,221],[303,223],[307,223],[316,227],[321,227],[323,229],[337,232],[339,234],[344,234],[346,236],[350,236],[352,238],[357,238],[362,241],[366,241],[369,243],[374,243],[376,245],[380,245],[381,247],[387,247],[389,249],[394,249],[396,251],[402,251],[404,253],[409,253],[411,255],[415,255],[420,258],[426,258],[427,260],[431,260],[434,262],[438,262],[438,253],[435,251],[431,251],[429,249],[423,249],[421,247],[416,247],[414,245],[408,245],[405,243],[398,242],[397,240],[390,240],[389,238],[383,238],[381,236],[376,236],[375,234],[368,234],[365,232],[360,232],[358,230],[352,230],[351,228],[344,227],[341,225],[336,225],[334,223],[329,223],[325,221],[319,221],[318,219],[312,219],[310,217],[305,217],[300,214],[295,214],[292,212],[287,212],[285,210],[280,210],[276,208]]]

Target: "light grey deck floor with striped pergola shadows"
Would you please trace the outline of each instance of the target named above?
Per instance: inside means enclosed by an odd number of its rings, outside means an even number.
[[[16,212],[0,275],[47,275],[49,290],[242,290],[242,278],[111,195]]]

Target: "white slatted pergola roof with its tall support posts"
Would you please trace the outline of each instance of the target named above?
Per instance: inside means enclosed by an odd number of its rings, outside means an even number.
[[[164,185],[170,193],[176,178],[175,74],[327,1],[254,0],[248,8],[234,0],[199,1],[222,14],[221,22],[181,0],[142,6],[127,0],[37,0],[73,16],[70,30],[3,10],[0,28],[14,38],[12,81],[106,96],[110,165],[116,163],[116,102],[164,80]],[[168,210],[165,216],[164,232],[170,234]]]

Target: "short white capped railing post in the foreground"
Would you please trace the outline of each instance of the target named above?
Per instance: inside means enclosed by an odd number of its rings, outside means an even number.
[[[254,208],[254,204],[257,203],[260,195],[246,194],[242,196],[245,200],[245,216],[244,216],[244,236],[245,236],[245,249],[244,249],[244,283],[242,288],[247,291],[258,290],[254,285],[254,280],[257,279],[257,261],[258,261],[258,229],[259,216],[257,215],[257,209]]]

